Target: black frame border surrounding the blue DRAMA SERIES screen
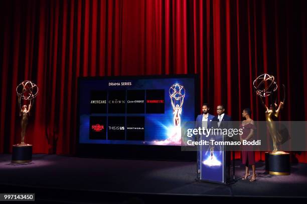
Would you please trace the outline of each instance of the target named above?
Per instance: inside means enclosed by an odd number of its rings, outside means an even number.
[[[196,151],[182,151],[178,145],[153,144],[97,144],[80,143],[80,81],[81,80],[135,80],[155,78],[194,78],[195,113],[199,114],[200,95],[199,74],[159,74],[159,75],[120,75],[120,76],[79,76],[77,80],[77,130],[76,155],[83,157],[120,158],[120,159],[151,159],[151,160],[196,160]]]

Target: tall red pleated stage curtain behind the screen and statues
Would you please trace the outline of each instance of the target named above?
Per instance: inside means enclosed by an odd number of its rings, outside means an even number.
[[[19,142],[15,89],[25,79],[40,88],[26,136],[35,153],[75,151],[78,76],[198,73],[212,113],[224,103],[235,120],[244,107],[264,120],[252,81],[267,72],[286,86],[281,119],[306,120],[306,8],[305,0],[1,1],[0,152]]]

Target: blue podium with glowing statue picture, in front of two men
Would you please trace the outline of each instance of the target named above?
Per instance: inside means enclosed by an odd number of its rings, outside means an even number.
[[[210,139],[201,138],[204,140]],[[225,141],[225,136],[215,136],[215,141]],[[197,149],[197,180],[229,184],[234,181],[234,164],[231,151],[223,145],[199,145]],[[234,158],[234,157],[233,157]],[[234,160],[233,160],[234,161]]]

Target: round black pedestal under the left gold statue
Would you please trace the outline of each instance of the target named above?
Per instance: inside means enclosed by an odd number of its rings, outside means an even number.
[[[12,163],[26,163],[32,161],[32,145],[13,145]]]

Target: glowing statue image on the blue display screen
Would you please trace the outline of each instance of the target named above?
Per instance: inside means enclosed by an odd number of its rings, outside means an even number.
[[[181,144],[181,113],[186,90],[182,84],[171,85],[170,99],[173,107],[173,125],[169,127],[168,138],[163,141],[155,141],[156,144]]]

